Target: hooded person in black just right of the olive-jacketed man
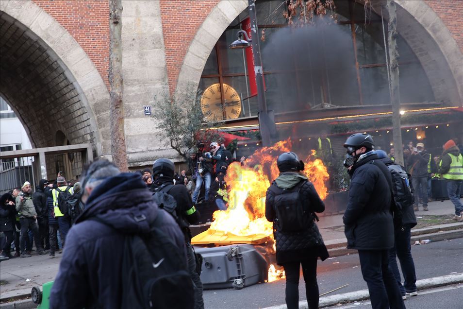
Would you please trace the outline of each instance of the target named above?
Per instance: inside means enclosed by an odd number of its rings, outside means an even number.
[[[37,212],[37,224],[39,229],[39,238],[45,250],[50,249],[49,227],[48,227],[48,206],[45,188],[48,186],[47,179],[40,179],[39,185],[35,188],[32,196],[35,212]]]

